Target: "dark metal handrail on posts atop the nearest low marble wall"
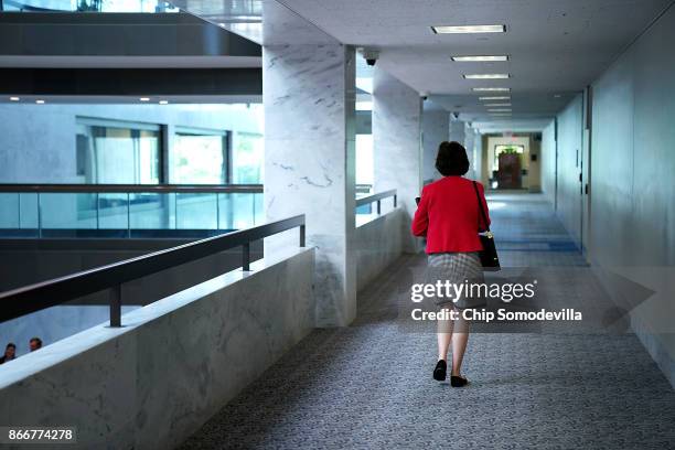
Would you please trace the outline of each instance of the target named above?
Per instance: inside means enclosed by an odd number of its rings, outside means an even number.
[[[304,214],[301,214],[2,292],[0,323],[110,289],[110,326],[121,326],[122,283],[239,246],[242,268],[248,271],[251,242],[294,227],[300,227],[300,247],[304,247]]]

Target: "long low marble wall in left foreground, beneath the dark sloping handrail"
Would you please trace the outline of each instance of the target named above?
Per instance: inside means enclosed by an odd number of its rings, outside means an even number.
[[[289,250],[3,364],[0,424],[75,426],[77,448],[176,447],[311,330],[313,266]]]

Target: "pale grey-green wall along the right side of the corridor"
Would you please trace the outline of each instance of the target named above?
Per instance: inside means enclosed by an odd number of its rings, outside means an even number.
[[[675,386],[675,9],[671,8],[593,84],[589,258],[655,293],[631,324]],[[558,215],[578,236],[581,96],[558,115]],[[555,193],[554,124],[544,131],[544,189]],[[619,293],[620,296],[622,293]]]

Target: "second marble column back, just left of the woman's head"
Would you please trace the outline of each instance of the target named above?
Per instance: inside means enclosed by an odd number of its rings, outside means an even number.
[[[373,161],[375,192],[396,189],[406,253],[417,253],[421,242],[410,235],[415,197],[422,186],[422,103],[419,94],[383,69],[373,77]]]

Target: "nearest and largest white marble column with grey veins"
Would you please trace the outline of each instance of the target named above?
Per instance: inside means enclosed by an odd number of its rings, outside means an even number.
[[[356,315],[354,49],[325,35],[311,43],[312,32],[262,46],[265,208],[268,221],[306,214],[315,324],[347,325]],[[265,250],[281,242],[266,239]]]

